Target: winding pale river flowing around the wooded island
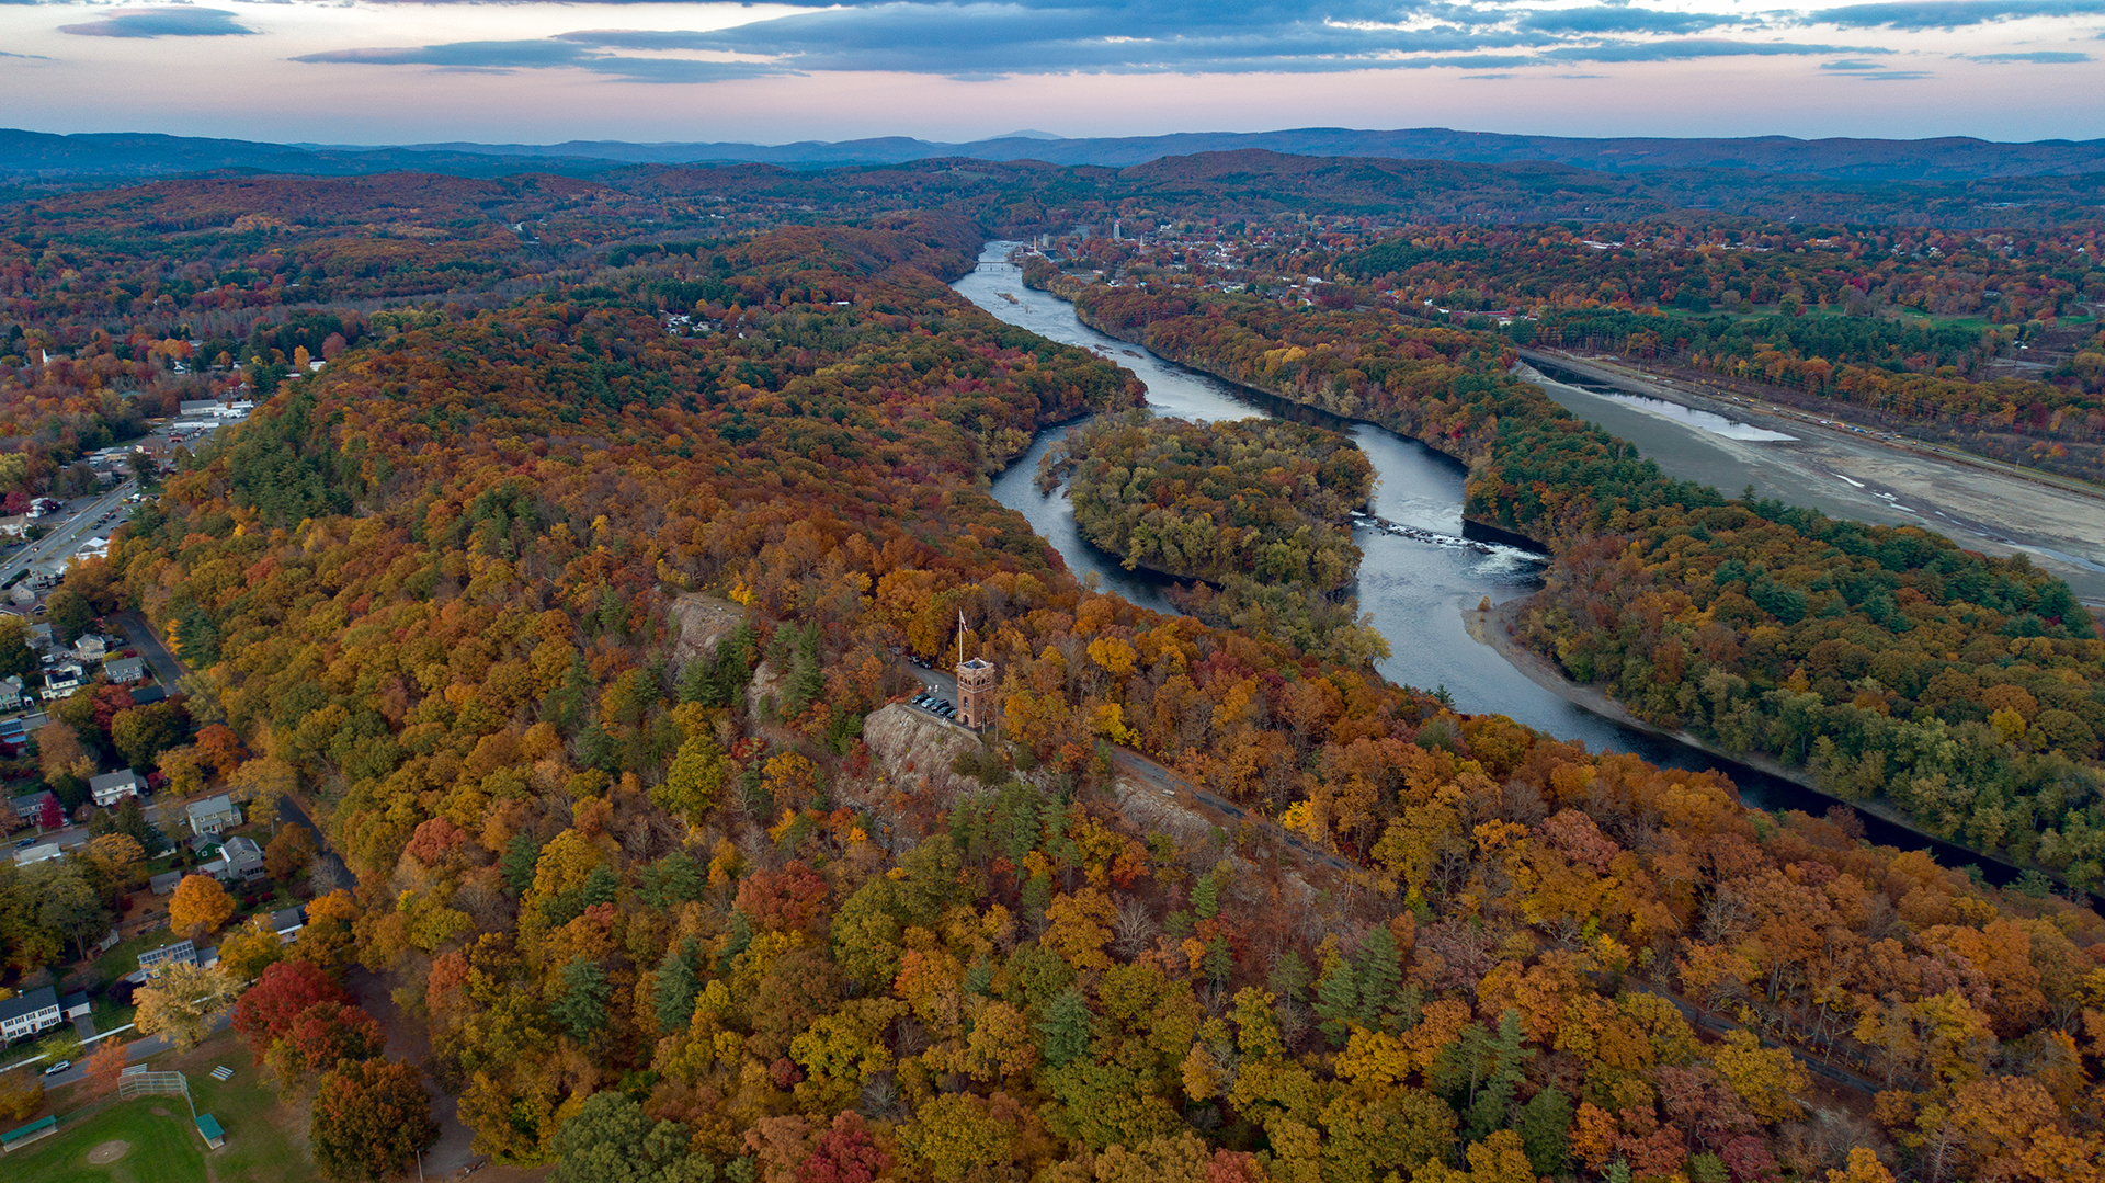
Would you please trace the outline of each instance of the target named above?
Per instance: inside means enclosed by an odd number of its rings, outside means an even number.
[[[1092,349],[1130,370],[1147,385],[1147,406],[1158,415],[1196,421],[1274,415],[1347,432],[1375,465],[1377,516],[1457,539],[1457,545],[1442,545],[1368,526],[1354,530],[1354,541],[1366,552],[1356,587],[1360,610],[1372,617],[1375,629],[1387,638],[1391,650],[1385,661],[1375,663],[1383,678],[1427,690],[1444,686],[1461,711],[1503,714],[1558,739],[1581,741],[1591,751],[1631,751],[1669,768],[1718,768],[1732,777],[1741,800],[1756,808],[1802,808],[1819,815],[1838,804],[1836,798],[1804,785],[1602,718],[1535,684],[1495,648],[1471,638],[1463,627],[1463,610],[1486,596],[1492,604],[1503,604],[1535,594],[1543,585],[1545,560],[1511,547],[1490,547],[1490,554],[1482,554],[1459,545],[1465,478],[1461,463],[1372,423],[1339,421],[1105,337],[1082,324],[1067,301],[1023,286],[1023,269],[1008,261],[1015,246],[1015,242],[989,242],[979,267],[951,288],[1008,324],[1063,345]],[[1004,293],[1015,299],[1006,299]],[[994,480],[994,499],[1023,514],[1031,528],[1059,549],[1076,577],[1095,575],[1105,592],[1118,592],[1160,613],[1175,613],[1162,594],[1166,579],[1126,570],[1118,558],[1082,539],[1065,490],[1038,490],[1038,459],[1076,425],[1063,423],[1040,432],[1031,448]],[[1861,817],[1873,842],[1911,850],[1930,848],[1939,863],[1953,867],[1981,863],[1996,882],[2014,876],[2014,867],[1991,863],[1972,850],[1924,838],[1871,815]]]

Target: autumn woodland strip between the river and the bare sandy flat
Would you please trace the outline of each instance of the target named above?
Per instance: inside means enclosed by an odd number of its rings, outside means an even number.
[[[1638,716],[1806,766],[1838,796],[1890,800],[2071,884],[2105,882],[2105,640],[2023,556],[1667,480],[1511,379],[1488,337],[1031,276],[1177,362],[1465,459],[1471,516],[1556,549],[1528,644]]]

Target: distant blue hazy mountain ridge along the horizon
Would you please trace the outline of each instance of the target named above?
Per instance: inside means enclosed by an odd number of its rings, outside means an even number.
[[[1042,139],[1044,137],[1044,139]],[[1471,164],[1570,164],[1602,173],[1659,168],[1739,168],[1846,181],[1968,181],[2105,173],[2105,139],[2004,143],[1974,137],[1796,139],[1768,137],[1539,137],[1452,128],[1288,128],[1267,133],[1170,133],[1156,137],[1074,137],[1010,133],[968,143],[914,137],[758,143],[413,143],[324,145],[158,133],[51,135],[0,131],[0,175],[11,177],[164,177],[202,171],[364,175],[429,171],[493,177],[518,171],[589,175],[634,164],[777,164],[834,168],[905,164],[930,158],[1042,160],[1061,166],[1132,166],[1168,156],[1267,149],[1290,156],[1448,160]]]

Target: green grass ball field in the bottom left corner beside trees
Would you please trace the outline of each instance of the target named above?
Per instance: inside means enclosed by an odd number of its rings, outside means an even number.
[[[219,1082],[215,1065],[234,1069]],[[189,1078],[200,1114],[219,1118],[225,1145],[204,1149],[181,1097],[114,1101],[80,1120],[59,1118],[59,1132],[0,1158],[6,1183],[307,1183],[318,1179],[305,1145],[288,1132],[290,1114],[250,1067],[248,1048],[232,1034],[215,1036],[183,1057],[154,1065]],[[160,1118],[154,1109],[171,1116]],[[128,1141],[118,1162],[95,1166],[88,1151]]]

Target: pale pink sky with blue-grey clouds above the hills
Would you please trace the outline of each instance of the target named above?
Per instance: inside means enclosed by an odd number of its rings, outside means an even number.
[[[2105,0],[0,0],[0,126],[373,145],[2101,139]]]

